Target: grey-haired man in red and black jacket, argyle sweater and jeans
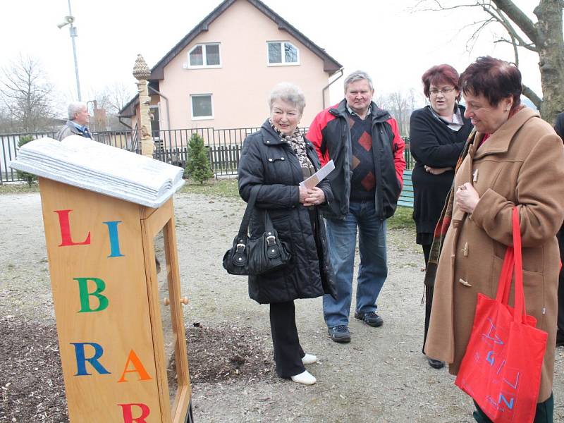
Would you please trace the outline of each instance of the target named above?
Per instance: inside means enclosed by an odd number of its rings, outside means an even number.
[[[360,266],[355,317],[369,326],[384,323],[376,314],[376,300],[388,276],[386,219],[396,211],[403,184],[405,144],[398,124],[372,102],[373,95],[369,75],[351,73],[345,79],[345,99],[321,111],[307,133],[321,164],[329,160],[335,164],[328,176],[334,199],[323,214],[337,299],[324,295],[323,312],[329,336],[340,343],[350,342],[357,228]]]

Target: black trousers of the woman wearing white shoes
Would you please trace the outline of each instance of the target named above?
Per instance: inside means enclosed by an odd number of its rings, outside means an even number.
[[[270,330],[274,346],[276,374],[289,378],[305,372],[298,329],[295,326],[295,307],[293,301],[272,302],[270,305]]]

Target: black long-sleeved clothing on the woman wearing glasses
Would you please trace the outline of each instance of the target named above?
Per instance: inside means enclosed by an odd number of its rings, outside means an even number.
[[[458,106],[464,125],[458,131],[448,128],[445,121],[431,112],[431,106],[413,111],[410,118],[410,150],[415,159],[412,171],[413,219],[417,233],[429,234],[429,243],[441,216],[446,195],[453,184],[454,170],[440,175],[425,171],[424,166],[454,167],[472,124],[464,118],[464,106]]]

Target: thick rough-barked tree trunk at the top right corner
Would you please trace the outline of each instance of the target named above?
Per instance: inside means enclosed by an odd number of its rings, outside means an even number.
[[[543,102],[541,116],[553,124],[564,111],[564,39],[562,33],[563,0],[541,0],[534,9],[538,18],[537,51],[541,71]]]

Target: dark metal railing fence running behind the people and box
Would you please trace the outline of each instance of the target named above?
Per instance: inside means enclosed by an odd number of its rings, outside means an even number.
[[[197,133],[204,144],[207,145],[209,161],[216,178],[218,176],[235,175],[239,164],[241,147],[247,135],[259,130],[259,128],[194,128],[194,129],[171,129],[153,131],[154,159],[165,161],[176,166],[185,167],[188,161],[188,143],[190,137]],[[307,128],[302,128],[303,133]],[[18,156],[18,142],[21,137],[55,137],[55,132],[41,133],[16,133],[0,134],[0,184],[20,180],[16,171],[9,167],[10,161]],[[117,130],[101,131],[92,134],[94,140],[107,145],[127,149],[130,152],[141,153],[140,130]],[[405,161],[407,169],[413,167],[413,159],[409,149],[409,138],[405,140]]]

